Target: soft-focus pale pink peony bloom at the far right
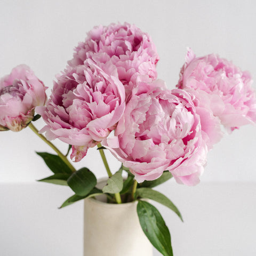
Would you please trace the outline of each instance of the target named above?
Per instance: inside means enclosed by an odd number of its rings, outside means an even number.
[[[214,116],[233,131],[256,122],[256,97],[251,84],[250,74],[233,63],[215,54],[196,58],[189,49],[178,87],[206,95]]]

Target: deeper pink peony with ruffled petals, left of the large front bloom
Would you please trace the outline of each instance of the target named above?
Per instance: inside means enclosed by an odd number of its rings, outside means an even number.
[[[107,73],[87,61],[70,68],[54,83],[50,99],[37,109],[46,122],[46,138],[73,145],[71,157],[80,161],[115,128],[125,108],[123,84],[114,66]],[[110,75],[111,74],[111,75]]]

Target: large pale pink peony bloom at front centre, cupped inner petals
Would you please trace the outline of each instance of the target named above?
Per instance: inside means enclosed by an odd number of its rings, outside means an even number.
[[[168,170],[178,183],[196,185],[206,164],[207,147],[193,95],[154,87],[132,96],[114,137],[102,145],[129,167],[138,182],[157,179]]]

